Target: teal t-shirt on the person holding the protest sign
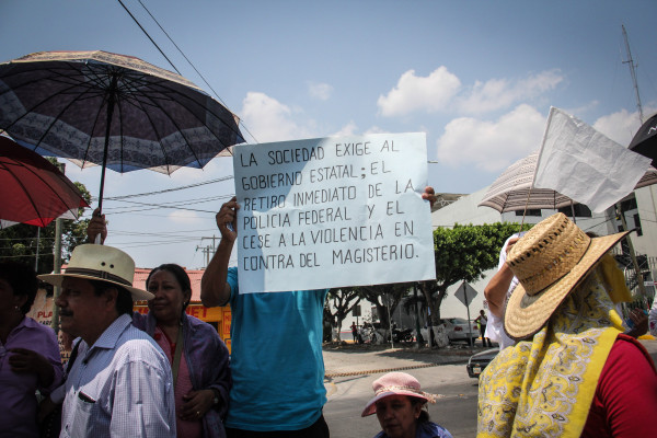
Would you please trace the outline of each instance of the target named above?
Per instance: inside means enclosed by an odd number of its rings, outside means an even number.
[[[226,426],[269,431],[311,426],[326,403],[322,319],[327,289],[240,293],[231,288],[233,387]]]

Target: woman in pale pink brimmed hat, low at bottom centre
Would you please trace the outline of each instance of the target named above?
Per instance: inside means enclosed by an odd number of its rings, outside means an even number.
[[[374,397],[361,416],[377,414],[381,430],[374,438],[451,438],[442,426],[429,420],[423,410],[436,403],[433,394],[423,392],[419,382],[405,372],[389,372],[372,383]]]

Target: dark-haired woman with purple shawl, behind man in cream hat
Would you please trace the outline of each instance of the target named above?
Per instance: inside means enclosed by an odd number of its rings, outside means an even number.
[[[224,437],[230,376],[228,348],[209,324],[185,313],[192,285],[184,268],[164,264],[150,272],[146,289],[155,298],[132,323],[150,334],[171,362],[178,437]]]

